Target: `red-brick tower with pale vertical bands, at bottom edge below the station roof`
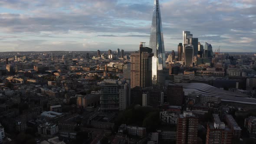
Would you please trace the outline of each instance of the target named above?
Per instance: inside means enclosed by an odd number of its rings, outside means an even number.
[[[177,122],[176,144],[197,144],[198,118],[192,111],[184,111]]]

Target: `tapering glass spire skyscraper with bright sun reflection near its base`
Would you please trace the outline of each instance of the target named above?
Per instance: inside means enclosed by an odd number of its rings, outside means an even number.
[[[152,84],[157,85],[158,70],[163,70],[165,68],[164,36],[159,0],[154,0],[149,47],[154,53],[154,56],[152,57]]]

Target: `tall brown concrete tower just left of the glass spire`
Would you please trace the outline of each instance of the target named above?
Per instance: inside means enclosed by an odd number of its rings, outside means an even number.
[[[139,52],[131,53],[131,88],[151,86],[152,49],[140,44]]]

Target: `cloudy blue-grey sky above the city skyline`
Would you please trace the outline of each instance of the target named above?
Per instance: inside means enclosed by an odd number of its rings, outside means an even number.
[[[213,51],[256,52],[256,0],[159,0],[165,51],[190,31]],[[0,52],[139,49],[154,0],[0,0]]]

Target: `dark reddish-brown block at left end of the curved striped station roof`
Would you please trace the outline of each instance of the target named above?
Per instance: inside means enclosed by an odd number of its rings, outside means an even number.
[[[166,101],[170,105],[182,106],[184,101],[183,87],[169,84],[166,89]]]

